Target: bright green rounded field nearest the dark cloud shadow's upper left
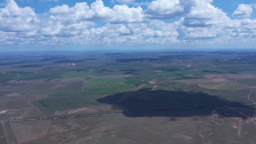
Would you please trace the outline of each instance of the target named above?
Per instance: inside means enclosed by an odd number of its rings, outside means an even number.
[[[134,89],[134,86],[124,84],[100,84],[90,85],[84,88],[85,91],[89,92],[123,92]]]

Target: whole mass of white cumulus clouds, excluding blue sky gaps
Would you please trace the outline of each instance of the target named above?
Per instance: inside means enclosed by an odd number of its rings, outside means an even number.
[[[213,0],[115,1],[118,4],[113,7],[95,0],[89,5],[63,4],[37,14],[32,7],[7,0],[0,9],[1,46],[256,44],[256,19],[243,18],[251,15],[254,4],[240,4],[233,15],[242,19],[231,19]],[[140,7],[143,3],[148,4],[144,9]]]

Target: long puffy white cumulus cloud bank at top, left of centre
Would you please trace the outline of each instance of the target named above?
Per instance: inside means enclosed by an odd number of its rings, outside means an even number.
[[[60,19],[74,19],[86,21],[106,21],[111,23],[143,22],[143,9],[127,5],[115,5],[113,8],[104,6],[102,0],[96,0],[90,6],[87,3],[76,3],[75,6],[56,6],[50,12]]]

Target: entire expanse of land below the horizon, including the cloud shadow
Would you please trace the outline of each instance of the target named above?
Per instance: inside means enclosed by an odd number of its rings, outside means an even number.
[[[254,144],[256,52],[0,54],[0,144]]]

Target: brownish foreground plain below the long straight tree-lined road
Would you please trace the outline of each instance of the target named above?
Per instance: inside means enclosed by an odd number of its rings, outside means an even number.
[[[183,112],[155,113],[88,117],[53,120],[44,138],[25,144],[52,143],[105,143],[113,144],[196,144],[203,143],[246,143],[253,144],[250,136],[255,131],[252,122],[242,120],[241,135],[237,136],[239,119],[220,117],[218,111],[239,117],[240,114],[230,108],[188,110]],[[194,116],[184,117],[187,113]],[[207,114],[208,113],[208,114]],[[205,115],[206,114],[206,115]],[[121,123],[122,122],[122,123]],[[154,123],[154,125],[152,125]],[[234,126],[234,127],[232,127]],[[216,129],[217,127],[217,129]],[[221,128],[221,129],[220,129]],[[179,131],[182,131],[179,132]],[[170,135],[173,134],[173,135]],[[223,137],[225,135],[225,137]]]

